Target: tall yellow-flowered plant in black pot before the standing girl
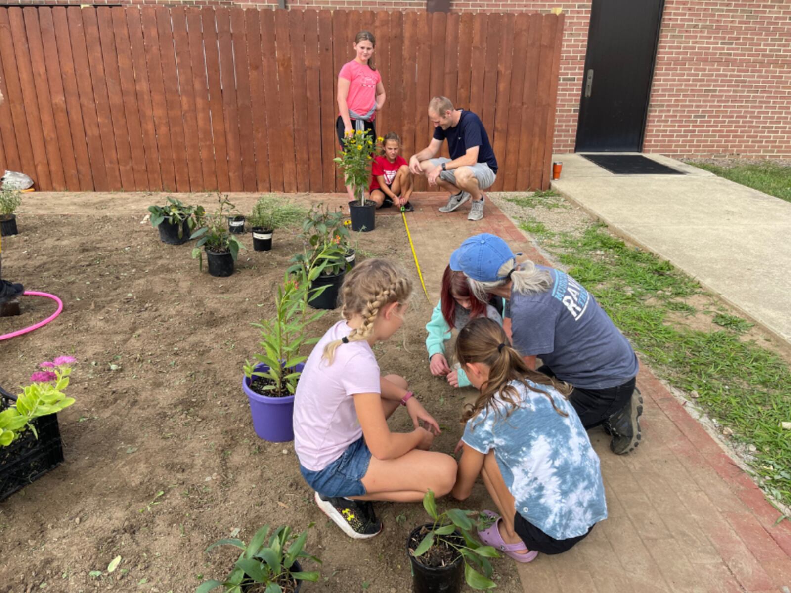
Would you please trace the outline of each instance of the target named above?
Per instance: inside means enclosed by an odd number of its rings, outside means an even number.
[[[376,140],[376,142],[374,142]],[[349,202],[351,229],[369,232],[376,229],[376,203],[365,199],[371,178],[371,162],[382,138],[373,138],[370,130],[350,130],[343,140],[343,149],[333,161],[343,171],[346,185],[352,187],[356,198]]]

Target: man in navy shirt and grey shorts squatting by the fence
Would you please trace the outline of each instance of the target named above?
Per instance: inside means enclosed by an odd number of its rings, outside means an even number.
[[[429,119],[434,124],[430,144],[412,155],[409,168],[415,175],[425,175],[429,185],[448,191],[450,198],[440,212],[452,212],[472,198],[468,221],[483,218],[483,190],[497,178],[497,159],[489,134],[478,115],[454,109],[451,100],[435,96],[429,102]],[[450,158],[435,158],[442,142],[448,140]]]

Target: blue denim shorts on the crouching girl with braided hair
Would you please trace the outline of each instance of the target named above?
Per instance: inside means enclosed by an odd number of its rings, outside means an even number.
[[[361,497],[365,494],[362,478],[368,471],[371,451],[361,436],[324,470],[312,471],[299,466],[305,482],[323,497]]]

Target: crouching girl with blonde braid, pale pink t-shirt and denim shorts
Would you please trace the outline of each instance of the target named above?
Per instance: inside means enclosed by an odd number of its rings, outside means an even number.
[[[440,433],[398,375],[380,376],[372,346],[403,323],[412,284],[398,266],[367,259],[346,275],[343,320],[320,339],[294,397],[294,450],[316,504],[347,535],[381,531],[371,500],[418,501],[428,489],[450,492],[456,461],[429,451]],[[391,432],[388,417],[405,406],[411,432]]]

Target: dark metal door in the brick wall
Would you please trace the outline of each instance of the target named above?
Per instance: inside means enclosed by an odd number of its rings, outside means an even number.
[[[664,0],[593,0],[577,152],[640,152]]]

